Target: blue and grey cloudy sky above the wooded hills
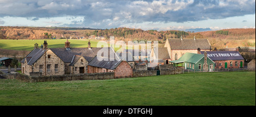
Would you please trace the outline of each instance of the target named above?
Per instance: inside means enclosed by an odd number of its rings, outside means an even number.
[[[255,28],[255,0],[0,0],[0,26]]]

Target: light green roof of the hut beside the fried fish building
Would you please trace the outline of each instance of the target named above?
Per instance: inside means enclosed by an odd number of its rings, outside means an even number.
[[[185,53],[183,56],[179,58],[179,60],[170,61],[173,63],[180,63],[179,61],[185,61],[185,62],[191,62],[193,64],[196,64],[201,58],[203,58],[204,55],[196,54],[196,53]]]

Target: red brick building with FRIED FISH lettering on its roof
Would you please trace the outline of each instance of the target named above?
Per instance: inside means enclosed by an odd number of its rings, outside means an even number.
[[[200,52],[204,54],[204,51]],[[207,51],[207,56],[213,60],[215,68],[243,68],[244,58],[238,51]]]

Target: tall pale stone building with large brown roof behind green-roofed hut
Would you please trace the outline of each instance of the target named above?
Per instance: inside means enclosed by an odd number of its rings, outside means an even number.
[[[211,51],[208,39],[167,39],[164,47],[167,48],[171,61],[178,60],[185,53],[198,53]]]

